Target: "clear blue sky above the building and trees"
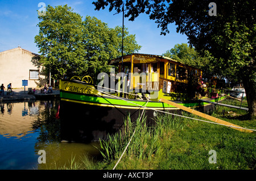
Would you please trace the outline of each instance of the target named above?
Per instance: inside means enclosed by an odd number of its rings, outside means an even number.
[[[74,12],[83,17],[86,15],[95,16],[102,22],[108,23],[110,28],[122,26],[122,14],[113,15],[115,12],[105,10],[95,11],[93,0],[84,1],[44,1],[44,0],[0,0],[0,52],[13,49],[18,45],[31,52],[38,53],[34,43],[34,37],[38,35],[39,23],[38,12],[43,2],[53,7],[58,5],[71,6]],[[187,36],[176,33],[174,24],[169,26],[170,33],[166,36],[160,35],[160,28],[148,18],[148,15],[141,14],[133,22],[125,18],[125,27],[130,34],[135,34],[136,40],[142,46],[139,53],[163,54],[174,47],[175,44],[187,43]]]

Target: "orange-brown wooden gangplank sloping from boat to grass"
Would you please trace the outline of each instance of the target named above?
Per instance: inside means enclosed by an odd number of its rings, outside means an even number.
[[[162,99],[160,99],[160,102],[170,104],[171,106],[174,106],[174,107],[180,108],[181,110],[193,113],[194,115],[197,115],[197,116],[200,116],[200,117],[204,117],[205,119],[208,119],[208,120],[213,121],[215,123],[220,123],[220,124],[224,124],[224,125],[238,127],[238,128],[233,128],[233,127],[230,127],[230,128],[237,129],[238,131],[241,131],[241,132],[249,132],[249,133],[253,132],[253,131],[250,131],[250,130],[247,130],[247,129],[241,129],[242,127],[240,127],[240,126],[238,126],[236,124],[232,124],[232,123],[229,123],[227,121],[218,119],[216,117],[207,115],[205,113],[202,113],[202,112],[199,112],[199,111],[196,111],[196,110],[192,110],[191,108],[188,108],[188,107],[182,106],[180,104],[171,102],[170,100],[166,100],[166,99],[162,98]]]

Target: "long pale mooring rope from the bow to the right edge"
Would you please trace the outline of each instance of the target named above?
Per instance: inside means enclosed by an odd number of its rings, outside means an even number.
[[[80,81],[77,81],[77,82],[80,83]],[[81,84],[82,84],[82,85],[85,85],[84,83],[81,83]],[[87,86],[87,85],[85,85],[85,86]],[[90,87],[90,86],[87,86],[87,87]],[[93,88],[93,87],[90,87],[90,88],[91,88],[91,89],[94,89],[94,90],[97,90],[97,89],[95,89],[95,88]],[[122,98],[120,98],[120,97],[118,97],[118,96],[115,96],[115,95],[108,94],[108,93],[106,93],[106,92],[104,92],[104,91],[100,91],[100,90],[97,90],[97,91],[99,91],[99,92],[101,92],[101,93],[103,93],[103,94],[109,95],[109,96],[113,96],[114,98],[117,98],[117,99],[120,99],[120,100],[124,100],[124,101],[126,101],[126,102],[129,102],[129,103],[135,104],[135,105],[137,105],[137,106],[139,106],[139,107],[143,107],[142,105],[139,105],[139,104],[137,104],[137,103],[130,102],[129,100],[122,99]],[[214,123],[214,122],[210,122],[210,121],[205,121],[205,120],[196,119],[196,118],[193,118],[193,117],[187,117],[187,116],[183,116],[183,115],[177,115],[177,114],[171,113],[171,112],[165,112],[165,111],[161,111],[161,110],[155,110],[154,108],[150,108],[150,107],[147,107],[147,108],[150,109],[150,110],[153,110],[153,111],[163,112],[163,113],[167,113],[167,114],[170,114],[170,115],[185,117],[185,118],[193,119],[193,120],[197,120],[197,121],[203,121],[203,122],[206,122],[206,123],[224,125],[224,126],[230,127],[230,128],[239,128],[239,129],[247,129],[247,130],[250,130],[250,131],[256,131],[255,129],[242,128],[242,127],[234,127],[233,125],[225,125],[225,124],[221,124],[221,123]]]

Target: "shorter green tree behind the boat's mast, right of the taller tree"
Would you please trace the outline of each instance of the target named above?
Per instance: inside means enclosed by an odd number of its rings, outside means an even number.
[[[93,77],[102,71],[109,73],[108,61],[121,56],[122,27],[109,28],[108,24],[90,16],[86,16],[83,25],[85,61],[89,68],[86,73]],[[137,44],[135,35],[129,35],[127,28],[124,28],[123,33],[123,53],[138,52],[141,46]]]

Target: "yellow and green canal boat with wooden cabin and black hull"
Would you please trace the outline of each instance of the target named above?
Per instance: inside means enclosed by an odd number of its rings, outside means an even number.
[[[101,73],[97,84],[89,76],[60,80],[63,140],[104,139],[122,127],[126,116],[137,119],[142,110],[148,124],[160,112],[179,113],[161,98],[204,112],[213,107],[209,102],[223,99],[220,92],[205,86],[201,69],[172,58],[133,53],[109,64],[119,73]],[[216,85],[214,79],[211,83]]]

